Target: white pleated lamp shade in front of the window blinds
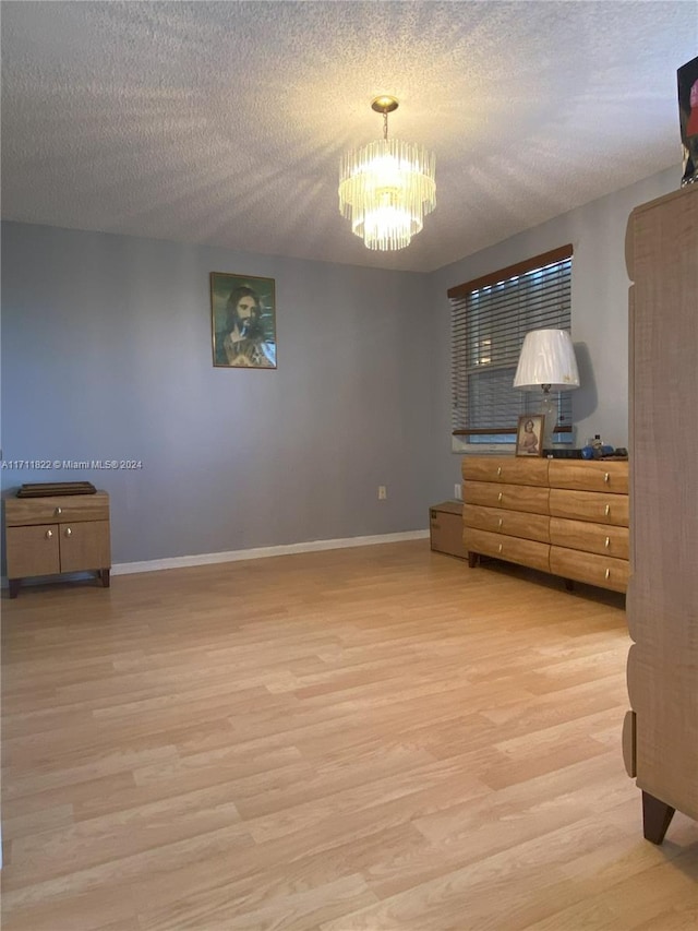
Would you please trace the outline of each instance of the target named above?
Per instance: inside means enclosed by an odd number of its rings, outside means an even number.
[[[567,330],[531,330],[526,334],[514,387],[540,391],[569,391],[579,387],[575,347]]]

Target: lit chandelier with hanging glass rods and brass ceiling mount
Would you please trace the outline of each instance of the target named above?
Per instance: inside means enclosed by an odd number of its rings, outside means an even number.
[[[376,97],[371,107],[383,114],[383,139],[341,159],[339,212],[368,249],[405,249],[436,206],[435,159],[422,146],[388,139],[395,97]]]

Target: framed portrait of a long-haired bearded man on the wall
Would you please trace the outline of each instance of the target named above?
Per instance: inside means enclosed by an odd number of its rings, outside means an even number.
[[[214,366],[276,368],[274,278],[210,273]]]

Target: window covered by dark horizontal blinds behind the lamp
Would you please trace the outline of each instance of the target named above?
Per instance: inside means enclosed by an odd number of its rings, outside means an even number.
[[[529,330],[569,330],[571,246],[450,288],[455,435],[514,443],[541,396],[513,387]],[[557,393],[555,440],[571,441],[571,392]]]

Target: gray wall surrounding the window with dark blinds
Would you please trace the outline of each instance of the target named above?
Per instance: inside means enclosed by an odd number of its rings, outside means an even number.
[[[576,444],[600,433],[614,446],[627,445],[629,281],[625,230],[634,207],[675,191],[681,176],[681,166],[653,175],[434,273],[433,290],[440,298],[437,396],[445,398],[434,413],[440,421],[440,456],[433,465],[441,487],[449,489],[458,481],[462,458],[445,453],[443,441],[450,433],[450,308],[446,291],[567,242],[575,250],[571,334],[581,382],[573,394]]]

